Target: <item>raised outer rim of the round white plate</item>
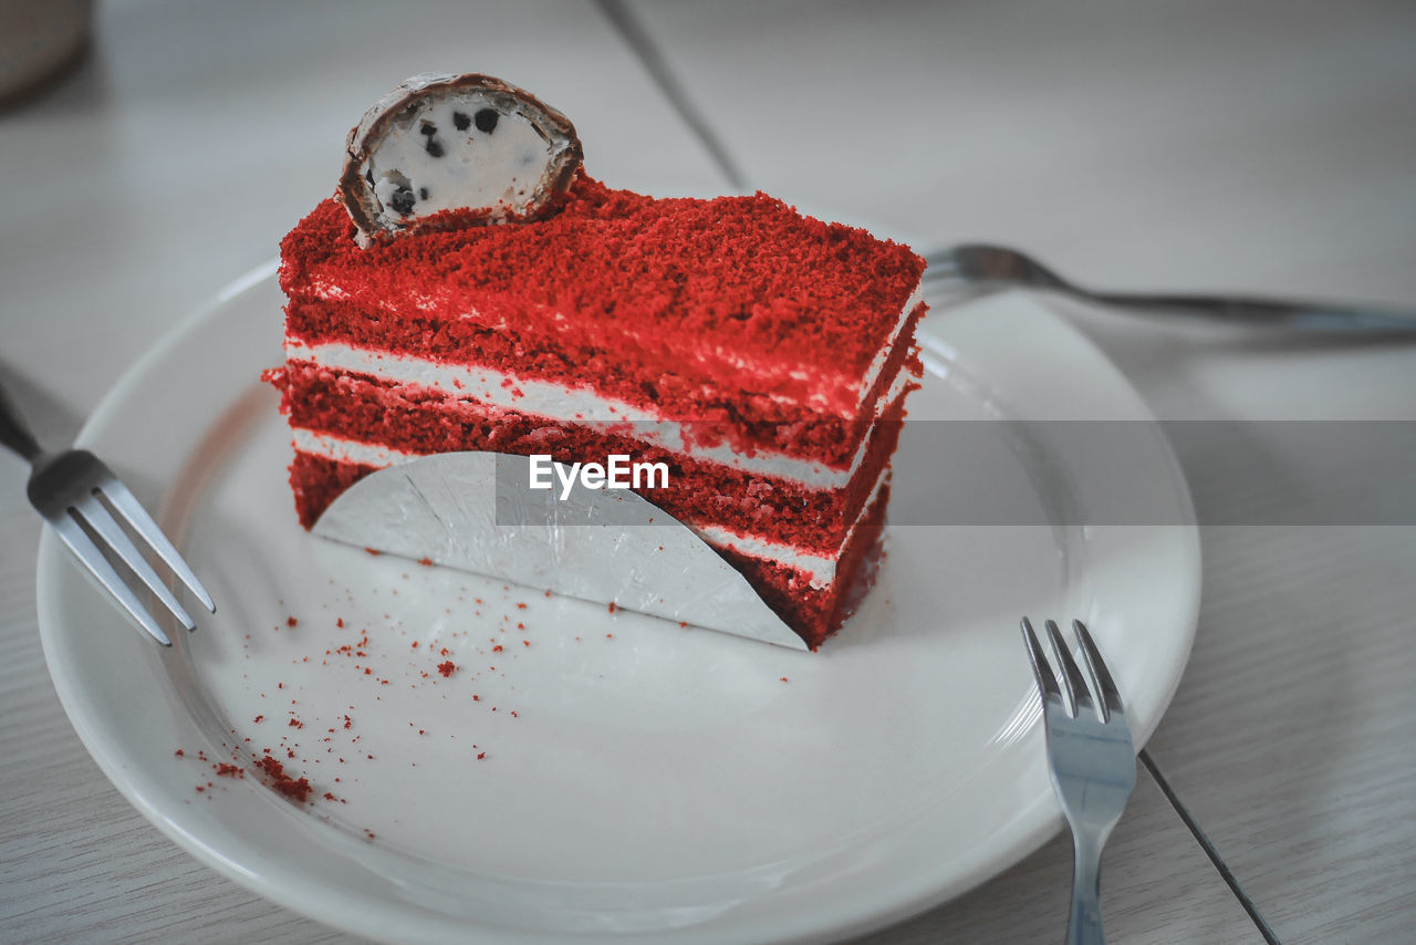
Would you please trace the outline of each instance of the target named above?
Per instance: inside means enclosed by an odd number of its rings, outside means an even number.
[[[113,417],[120,412],[125,401],[132,397],[133,390],[137,388],[144,378],[170,356],[173,350],[180,349],[194,333],[200,333],[202,326],[205,326],[210,319],[215,317],[215,315],[219,313],[232,299],[236,299],[265,281],[272,279],[276,272],[276,261],[266,261],[252,268],[218,290],[207,303],[193,310],[171,330],[166,332],[147,351],[143,353],[142,357],[139,357],[132,366],[129,366],[127,370],[122,373],[119,380],[105,394],[98,408],[95,408],[93,414],[79,431],[75,441],[76,445],[82,446],[95,439],[99,432],[113,421]],[[1075,343],[1079,350],[1086,350],[1096,363],[1106,366],[1112,374],[1113,387],[1116,387],[1117,391],[1124,390],[1130,401],[1124,405],[1126,409],[1134,412],[1138,418],[1154,418],[1148,405],[1136,391],[1131,381],[1120,371],[1119,367],[1116,367],[1102,349],[1099,349],[1089,337],[1086,337],[1066,317],[1058,315],[1054,309],[1045,305],[1035,305],[1035,307],[1045,313],[1045,316],[1054,322],[1059,330],[1070,336],[1069,340]],[[1158,438],[1157,445],[1164,452],[1168,475],[1171,477],[1171,483],[1175,486],[1174,497],[1178,499],[1182,506],[1184,521],[1180,523],[1181,528],[1178,530],[1182,537],[1178,540],[1177,551],[1182,555],[1187,572],[1192,575],[1192,582],[1189,584],[1189,591],[1182,594],[1185,612],[1178,615],[1175,621],[1177,625],[1182,626],[1185,630],[1182,656],[1178,659],[1175,670],[1168,680],[1168,691],[1165,691],[1164,697],[1158,701],[1158,710],[1154,718],[1148,720],[1150,725],[1144,731],[1136,732],[1137,751],[1144,747],[1155,727],[1160,724],[1160,720],[1168,710],[1184,676],[1198,626],[1201,601],[1201,544],[1194,511],[1194,497],[1172,446],[1163,435]],[[406,927],[401,927],[398,932],[391,931],[391,928],[371,928],[367,922],[377,922],[379,918],[384,918],[387,924],[388,912],[382,910],[370,911],[368,908],[360,907],[365,912],[360,915],[360,908],[350,908],[350,900],[354,897],[344,894],[341,898],[337,890],[326,890],[324,895],[316,897],[310,897],[307,894],[309,891],[302,895],[296,893],[296,887],[293,884],[285,885],[275,881],[269,876],[269,870],[252,871],[244,868],[239,861],[231,859],[229,856],[224,856],[221,850],[212,847],[200,836],[195,836],[190,830],[184,829],[183,825],[167,817],[163,813],[163,809],[153,803],[152,798],[147,796],[143,786],[139,783],[139,779],[123,766],[120,757],[115,757],[109,752],[106,745],[99,742],[86,717],[88,707],[85,704],[82,686],[71,676],[68,667],[58,663],[58,657],[55,656],[58,652],[55,643],[64,632],[62,628],[58,628],[58,605],[55,602],[57,595],[59,594],[58,588],[62,585],[64,579],[62,577],[58,577],[64,574],[62,568],[58,567],[62,560],[64,551],[61,545],[50,530],[42,530],[38,548],[35,589],[38,599],[40,636],[45,664],[59,696],[59,701],[64,706],[65,714],[74,725],[75,732],[79,735],[85,749],[95,759],[105,776],[110,783],[113,783],[119,793],[178,847],[193,854],[207,867],[217,870],[227,878],[269,901],[278,902],[279,905],[320,924],[347,932],[361,935],[405,935],[409,931]],[[74,572],[74,577],[78,577],[76,571]],[[833,910],[827,907],[816,912],[811,918],[817,921],[797,922],[792,928],[777,929],[776,935],[760,941],[796,941],[801,938],[810,938],[811,941],[837,941],[852,935],[861,935],[872,929],[879,929],[930,908],[936,908],[967,890],[971,890],[995,877],[1007,867],[1021,861],[1041,847],[1049,837],[1058,833],[1062,827],[1062,819],[1058,810],[1052,808],[1048,800],[1049,795],[1039,795],[1035,796],[1025,808],[1017,810],[1014,817],[1010,820],[1012,830],[1005,837],[1005,842],[994,844],[991,856],[981,857],[978,860],[980,866],[971,870],[967,876],[960,876],[954,881],[944,884],[919,884],[918,888],[912,888],[906,894],[892,900],[888,908],[877,908],[868,914],[861,914],[860,910],[852,911],[850,908],[843,908],[845,904],[840,902],[837,904],[838,908]],[[1039,810],[1041,808],[1051,809]],[[304,888],[304,885],[300,888]],[[314,885],[317,887],[319,884]],[[329,905],[337,905],[337,908],[320,908],[321,902],[326,900],[329,901]],[[354,914],[351,915],[351,912]],[[447,917],[440,918],[446,919]],[[820,921],[823,918],[826,921]],[[660,931],[666,938],[671,936],[675,941],[685,942],[716,941],[716,935],[719,934],[718,929],[714,929],[705,938],[702,929],[697,929],[698,934],[695,935],[695,929],[692,927],[687,929]],[[549,941],[552,938],[555,941],[593,941],[599,938],[596,934],[559,936],[544,934],[534,935],[520,929],[506,928],[498,928],[497,932],[497,935],[493,935],[491,929],[487,927],[462,928],[463,935],[477,936],[477,941],[480,941],[479,934],[486,935],[487,941]]]

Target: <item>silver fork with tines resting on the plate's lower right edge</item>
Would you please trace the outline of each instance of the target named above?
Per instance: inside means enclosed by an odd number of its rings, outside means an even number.
[[[1072,621],[1090,684],[1082,677],[1058,625],[1048,621],[1045,626],[1061,674],[1052,673],[1032,623],[1022,618],[1022,638],[1042,694],[1052,788],[1072,827],[1072,912],[1066,941],[1068,945],[1100,945],[1106,941],[1102,934],[1102,847],[1136,786],[1136,751],[1116,680],[1086,626]]]

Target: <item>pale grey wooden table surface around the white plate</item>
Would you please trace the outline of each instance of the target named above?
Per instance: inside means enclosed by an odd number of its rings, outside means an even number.
[[[1416,307],[1416,7],[1065,6],[101,3],[78,69],[0,113],[0,383],[68,442],[331,191],[365,105],[433,69],[534,89],[620,186],[760,187],[1097,285]],[[1262,942],[1242,894],[1283,942],[1416,941],[1416,343],[1063,310],[1158,417],[1247,434],[1177,443],[1215,524],[1148,749],[1239,893],[1143,769],[1112,939]],[[1364,419],[1398,448],[1276,422]],[[198,864],[89,759],[40,650],[24,479],[0,456],[0,939],[357,941]],[[1059,941],[1069,856],[868,941]]]

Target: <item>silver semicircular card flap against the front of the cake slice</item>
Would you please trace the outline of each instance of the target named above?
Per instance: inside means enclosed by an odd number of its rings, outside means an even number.
[[[421,456],[370,473],[314,534],[535,589],[804,650],[806,643],[688,526],[627,489],[530,489],[531,460]]]

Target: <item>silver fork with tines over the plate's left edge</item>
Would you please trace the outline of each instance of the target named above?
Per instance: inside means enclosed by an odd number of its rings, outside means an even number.
[[[4,388],[0,388],[0,442],[30,462],[30,504],[54,526],[69,551],[153,639],[171,646],[157,619],[108,562],[103,548],[116,555],[183,626],[193,630],[197,623],[147,564],[113,513],[215,613],[217,605],[211,602],[211,595],[127,486],[86,449],[44,452],[10,404]]]

